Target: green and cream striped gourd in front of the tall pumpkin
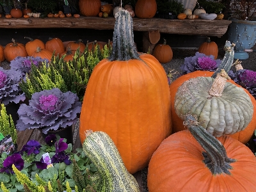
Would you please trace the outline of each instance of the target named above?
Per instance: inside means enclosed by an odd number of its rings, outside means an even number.
[[[83,150],[99,172],[101,181],[97,192],[140,191],[138,182],[125,168],[115,143],[106,132],[87,131]]]

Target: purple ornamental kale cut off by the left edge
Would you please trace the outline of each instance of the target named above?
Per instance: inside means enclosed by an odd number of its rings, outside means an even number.
[[[20,89],[19,81],[22,78],[20,71],[5,70],[0,67],[0,101],[4,105],[9,104],[9,102],[19,103],[20,100],[24,101],[26,96],[24,92]]]

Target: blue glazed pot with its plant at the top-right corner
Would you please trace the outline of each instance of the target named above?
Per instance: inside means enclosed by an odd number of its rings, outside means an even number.
[[[246,60],[249,58],[245,49],[251,49],[256,40],[256,0],[234,0],[230,3],[230,20],[228,40],[234,42],[234,59]]]

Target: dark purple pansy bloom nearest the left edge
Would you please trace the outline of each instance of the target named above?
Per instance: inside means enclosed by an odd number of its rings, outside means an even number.
[[[3,168],[1,168],[0,172],[1,173],[14,173],[12,170],[12,164],[15,165],[17,170],[22,170],[24,167],[24,160],[20,156],[20,154],[13,154],[12,156],[8,156],[4,162],[3,162]]]

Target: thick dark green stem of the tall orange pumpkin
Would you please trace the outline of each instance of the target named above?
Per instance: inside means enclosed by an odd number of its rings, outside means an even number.
[[[132,17],[127,10],[116,13],[116,22],[113,33],[113,48],[109,61],[140,60],[134,45]]]

